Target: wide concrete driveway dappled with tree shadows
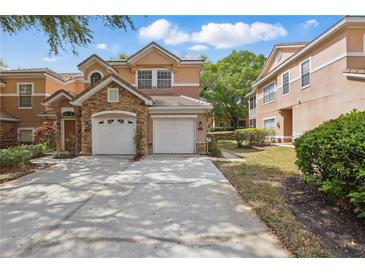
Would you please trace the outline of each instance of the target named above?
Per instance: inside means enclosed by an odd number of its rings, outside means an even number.
[[[79,157],[0,187],[1,257],[285,257],[202,157]]]

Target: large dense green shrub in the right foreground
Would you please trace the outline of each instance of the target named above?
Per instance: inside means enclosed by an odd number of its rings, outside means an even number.
[[[294,145],[304,180],[365,217],[365,112],[324,122]]]

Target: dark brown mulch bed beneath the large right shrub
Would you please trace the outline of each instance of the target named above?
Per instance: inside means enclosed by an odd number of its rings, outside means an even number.
[[[299,177],[290,177],[283,186],[290,211],[321,238],[334,257],[365,257],[365,222],[305,185]]]

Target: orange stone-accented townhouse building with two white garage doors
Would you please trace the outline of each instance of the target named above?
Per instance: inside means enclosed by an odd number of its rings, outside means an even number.
[[[202,63],[150,43],[123,61],[94,54],[78,65],[78,74],[0,71],[1,135],[16,128],[20,142],[32,142],[34,129],[49,120],[58,150],[206,153],[212,106],[199,100]]]

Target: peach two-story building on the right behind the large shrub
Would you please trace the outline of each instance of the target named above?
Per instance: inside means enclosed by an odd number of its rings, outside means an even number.
[[[364,111],[365,17],[344,17],[311,42],[275,45],[248,97],[250,127],[274,129],[279,142]]]

